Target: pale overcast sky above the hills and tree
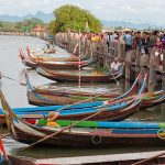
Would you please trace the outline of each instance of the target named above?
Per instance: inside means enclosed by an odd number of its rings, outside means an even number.
[[[165,24],[165,0],[0,0],[0,14],[24,15],[77,4],[101,20]]]

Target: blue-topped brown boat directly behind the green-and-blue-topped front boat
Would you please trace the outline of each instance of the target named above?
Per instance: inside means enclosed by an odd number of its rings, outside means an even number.
[[[110,106],[101,106],[100,108],[85,108],[85,109],[73,109],[73,110],[61,110],[58,112],[57,119],[59,120],[81,120],[87,118],[88,116],[95,114],[100,111],[98,116],[95,116],[90,120],[101,120],[101,121],[121,121],[130,116],[134,114],[139,111],[140,101],[130,100],[129,102],[118,102]],[[21,111],[16,110],[16,116],[31,121],[35,122],[35,119],[41,119],[48,116],[50,111]]]

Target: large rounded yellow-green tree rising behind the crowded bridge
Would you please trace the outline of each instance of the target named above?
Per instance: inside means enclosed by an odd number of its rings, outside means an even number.
[[[50,23],[50,31],[54,33],[68,30],[85,32],[87,22],[89,30],[92,32],[100,32],[102,28],[100,20],[95,18],[89,11],[77,6],[63,6],[54,11],[54,15],[56,18],[54,23]]]

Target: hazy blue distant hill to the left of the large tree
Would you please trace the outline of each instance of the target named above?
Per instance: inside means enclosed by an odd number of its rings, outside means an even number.
[[[32,19],[32,18],[37,18],[44,21],[45,23],[48,23],[51,20],[54,20],[53,13],[44,13],[42,11],[37,11],[36,14],[26,14],[24,16],[3,14],[0,15],[0,21],[21,22],[25,19]]]

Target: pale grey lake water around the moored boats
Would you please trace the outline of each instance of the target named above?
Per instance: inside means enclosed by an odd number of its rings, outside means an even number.
[[[0,36],[0,72],[3,75],[24,82],[24,66],[22,65],[19,58],[19,47],[22,47],[25,51],[26,46],[36,50],[37,47],[44,47],[45,41],[36,37],[28,36]],[[58,56],[65,55],[68,56],[68,53],[59,47]],[[40,51],[40,50],[37,50]],[[41,77],[36,74],[35,70],[28,69],[30,79],[33,85],[43,85],[52,82],[51,80]],[[66,86],[73,86],[72,84],[66,84]],[[61,86],[61,84],[58,84]],[[63,85],[64,86],[64,85]],[[74,84],[75,86],[75,84]],[[76,85],[77,86],[77,85]],[[100,85],[99,85],[100,86]],[[15,81],[2,78],[0,80],[0,87],[9,101],[10,106],[13,107],[31,107],[28,103],[26,99],[26,88],[19,85]],[[91,90],[96,88],[97,85],[90,85]],[[102,84],[101,88],[116,88],[116,84]],[[120,81],[120,90],[124,90],[124,81]],[[165,103],[151,108],[147,110],[140,111],[135,116],[131,117],[128,120],[141,120],[141,121],[165,121]],[[3,129],[2,133],[6,133],[7,130]],[[6,150],[8,153],[13,155],[21,156],[31,156],[31,157],[62,157],[62,156],[80,156],[80,155],[105,155],[105,154],[114,154],[114,153],[131,153],[131,152],[141,152],[141,151],[156,151],[164,150],[163,147],[130,147],[130,148],[108,148],[108,150],[79,150],[79,148],[64,148],[64,147],[34,147],[25,151],[20,150],[20,147],[25,146],[19,142],[11,140],[10,138],[3,139]]]

